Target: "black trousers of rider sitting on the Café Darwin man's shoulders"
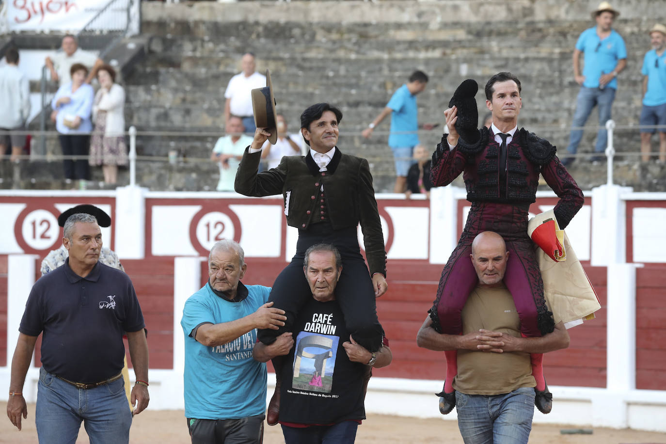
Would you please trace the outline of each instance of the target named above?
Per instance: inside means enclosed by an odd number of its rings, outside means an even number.
[[[384,330],[377,319],[374,288],[368,266],[361,256],[356,237],[356,227],[334,230],[330,224],[320,222],[313,224],[308,230],[299,230],[296,254],[292,261],[275,280],[270,291],[269,301],[274,308],[286,312],[287,320],[284,327],[278,330],[264,329],[258,331],[258,339],[270,344],[284,332],[294,332],[292,326],[298,310],[312,298],[310,286],[303,272],[305,251],[314,244],[332,244],[342,256],[342,274],[336,286],[336,300],[344,315],[344,323],[348,332],[356,342],[370,351],[378,351],[382,347]],[[342,338],[348,341],[348,338]]]

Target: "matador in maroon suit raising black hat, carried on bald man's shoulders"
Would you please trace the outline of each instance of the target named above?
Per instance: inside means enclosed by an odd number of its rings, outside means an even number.
[[[583,205],[583,192],[555,156],[555,146],[521,128],[517,116],[522,105],[520,81],[511,73],[494,75],[486,84],[486,105],[493,114],[490,129],[476,129],[478,112],[474,95],[478,86],[465,81],[445,111],[450,134],[442,136],[432,156],[432,184],[445,186],[461,173],[472,202],[458,246],[442,271],[437,298],[430,310],[432,327],[440,333],[462,332],[461,312],[478,283],[470,260],[472,240],[484,231],[500,234],[509,251],[504,283],[513,296],[523,336],[553,332],[553,316],[545,304],[543,281],[527,235],[529,204],[536,200],[539,173],[559,196],[555,217],[560,228]],[[440,411],[455,405],[453,379],[458,373],[456,351],[445,351],[446,382],[440,393]],[[548,413],[551,394],[545,386],[542,354],[532,353],[535,403]]]

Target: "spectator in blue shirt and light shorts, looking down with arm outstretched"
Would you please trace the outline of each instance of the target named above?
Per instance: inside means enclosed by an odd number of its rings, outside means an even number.
[[[391,114],[391,132],[388,136],[388,146],[393,151],[396,161],[396,184],[393,192],[405,192],[407,185],[407,172],[414,163],[412,159],[412,150],[419,144],[418,134],[418,109],[416,107],[416,95],[426,89],[428,76],[422,71],[414,71],[408,80],[408,83],[398,88],[388,101],[386,107],[379,113],[368,128],[363,130],[365,138],[372,135],[374,127],[384,120],[388,114]],[[424,128],[430,129],[432,125],[424,125]]]

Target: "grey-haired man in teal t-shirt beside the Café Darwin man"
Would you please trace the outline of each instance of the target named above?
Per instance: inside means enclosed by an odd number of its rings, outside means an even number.
[[[208,256],[208,282],[182,310],[192,444],[260,443],[263,437],[266,364],[252,359],[252,347],[257,328],[277,329],[286,317],[266,302],[270,288],[240,282],[246,269],[239,244],[217,242]]]

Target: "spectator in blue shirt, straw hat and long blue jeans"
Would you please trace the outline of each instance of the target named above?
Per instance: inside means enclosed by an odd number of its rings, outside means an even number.
[[[627,49],[624,40],[613,29],[613,21],[619,15],[608,2],[602,1],[592,13],[597,22],[595,27],[585,29],[578,37],[573,50],[573,77],[581,89],[576,99],[576,111],[573,114],[574,128],[583,126],[595,106],[599,106],[599,125],[604,126],[611,118],[611,106],[615,99],[617,80],[615,77],[627,65]],[[581,75],[579,57],[583,53],[583,73]],[[583,138],[583,130],[571,130],[567,151],[575,154]],[[606,149],[607,134],[605,128],[597,132],[595,152]],[[603,160],[595,156],[592,160]],[[564,165],[571,164],[573,157],[564,158]]]

